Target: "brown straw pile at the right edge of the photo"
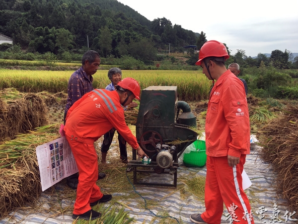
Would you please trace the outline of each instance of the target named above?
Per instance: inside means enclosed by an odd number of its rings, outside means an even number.
[[[277,173],[276,190],[298,211],[298,106],[288,105],[281,116],[262,128],[258,136],[261,158]]]

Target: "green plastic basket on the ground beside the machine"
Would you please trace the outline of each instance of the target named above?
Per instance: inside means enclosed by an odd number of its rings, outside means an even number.
[[[183,163],[187,167],[204,167],[207,160],[206,142],[204,140],[196,140],[192,144],[189,153],[183,156]]]

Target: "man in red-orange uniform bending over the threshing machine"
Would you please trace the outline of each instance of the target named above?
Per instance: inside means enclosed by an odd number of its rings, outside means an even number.
[[[147,156],[125,123],[123,107],[135,98],[140,100],[140,85],[132,78],[125,78],[118,83],[115,91],[95,89],[69,109],[64,131],[79,172],[74,219],[99,218],[101,214],[92,210],[91,206],[112,199],[112,195],[103,195],[96,185],[98,162],[94,141],[115,127],[140,157]]]

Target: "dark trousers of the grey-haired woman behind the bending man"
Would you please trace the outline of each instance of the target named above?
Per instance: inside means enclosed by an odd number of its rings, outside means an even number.
[[[111,143],[113,141],[114,133],[116,129],[112,128],[103,136],[103,142],[101,145],[102,152],[107,152],[111,146]],[[120,148],[120,159],[126,160],[127,159],[127,150],[126,150],[126,141],[125,139],[118,133],[118,141],[119,141],[119,148]]]

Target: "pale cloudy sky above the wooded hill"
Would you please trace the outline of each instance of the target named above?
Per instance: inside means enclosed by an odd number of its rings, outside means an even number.
[[[118,0],[152,21],[165,17],[172,25],[207,40],[225,43],[231,55],[247,57],[273,50],[298,53],[298,0]],[[195,43],[194,43],[195,44]]]

